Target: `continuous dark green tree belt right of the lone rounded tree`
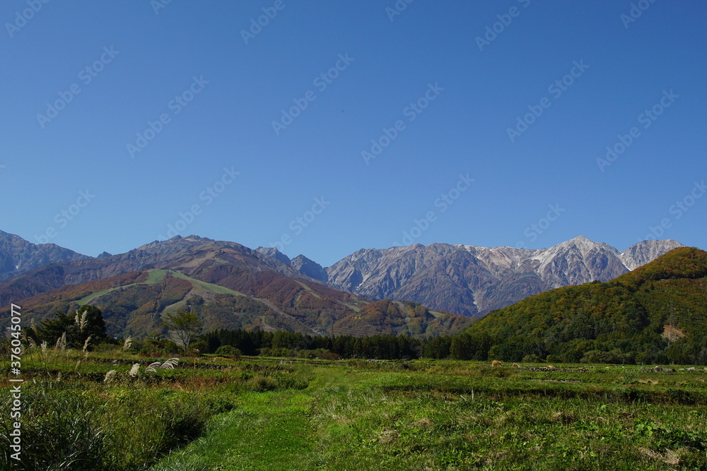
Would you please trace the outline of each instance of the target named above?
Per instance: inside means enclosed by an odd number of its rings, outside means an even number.
[[[459,359],[485,362],[553,362],[608,364],[707,364],[707,339],[575,339],[547,342],[526,336],[501,338],[485,332],[464,332],[434,338],[404,335],[370,337],[313,336],[278,330],[215,330],[199,337],[204,353],[230,346],[245,355],[323,359]]]

